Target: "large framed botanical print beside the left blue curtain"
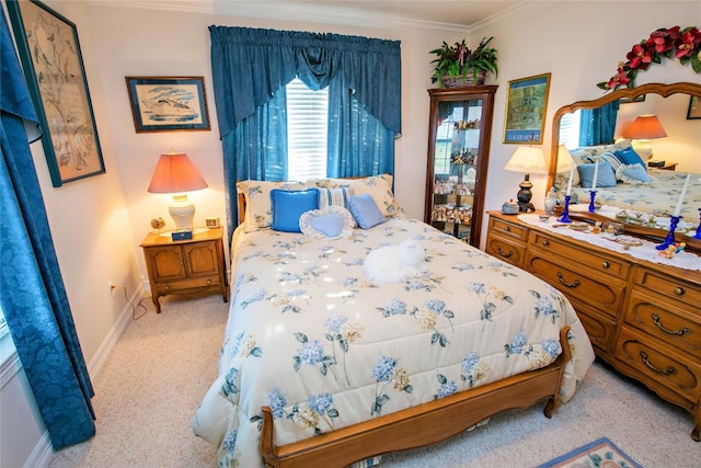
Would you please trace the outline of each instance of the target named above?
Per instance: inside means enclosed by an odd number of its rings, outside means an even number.
[[[104,173],[76,25],[36,0],[7,4],[51,184]]]

